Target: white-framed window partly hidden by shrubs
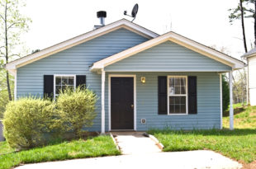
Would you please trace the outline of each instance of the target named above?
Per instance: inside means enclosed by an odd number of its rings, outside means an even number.
[[[59,92],[66,87],[75,89],[75,76],[74,75],[55,75],[55,92],[54,95],[59,96]]]

